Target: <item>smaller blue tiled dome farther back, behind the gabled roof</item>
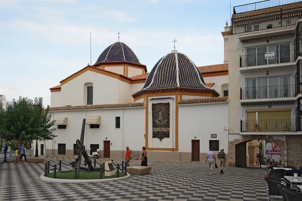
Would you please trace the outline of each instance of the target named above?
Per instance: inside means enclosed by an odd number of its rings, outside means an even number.
[[[109,45],[99,56],[97,62],[94,64],[99,64],[102,62],[130,62],[135,64],[141,64],[134,54],[134,52],[122,42],[115,42]]]

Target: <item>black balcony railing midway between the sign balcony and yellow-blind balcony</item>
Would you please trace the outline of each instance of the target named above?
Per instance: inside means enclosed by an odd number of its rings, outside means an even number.
[[[274,85],[240,88],[241,99],[294,97],[295,85]]]

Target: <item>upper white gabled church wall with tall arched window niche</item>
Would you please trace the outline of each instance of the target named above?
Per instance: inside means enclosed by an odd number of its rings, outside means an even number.
[[[113,77],[87,71],[61,86],[60,106],[84,105],[84,84],[93,83],[93,105],[117,104],[119,82]],[[86,94],[85,94],[86,95]]]

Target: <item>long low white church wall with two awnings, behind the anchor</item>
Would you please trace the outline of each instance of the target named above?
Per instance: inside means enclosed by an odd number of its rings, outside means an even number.
[[[46,156],[75,157],[73,144],[80,139],[83,119],[88,116],[101,116],[99,129],[91,129],[86,125],[84,145],[86,150],[91,144],[98,144],[100,157],[104,157],[104,141],[110,141],[110,158],[123,158],[126,146],[134,151],[140,151],[145,146],[144,108],[106,109],[88,111],[52,112],[52,119],[67,117],[66,129],[57,129],[54,140],[39,142],[45,144]],[[115,117],[120,117],[120,129],[115,128]],[[56,126],[57,127],[57,126]],[[135,140],[133,140],[135,139]],[[66,144],[66,154],[58,155],[58,144]],[[40,154],[40,151],[39,151]]]

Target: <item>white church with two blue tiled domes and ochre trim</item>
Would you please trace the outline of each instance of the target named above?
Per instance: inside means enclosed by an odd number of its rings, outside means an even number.
[[[220,147],[228,153],[226,57],[197,67],[172,50],[147,73],[129,46],[116,42],[50,91],[57,137],[39,142],[40,155],[75,157],[83,119],[84,145],[99,148],[101,158],[123,158],[126,146],[145,146],[151,160],[203,161]]]

